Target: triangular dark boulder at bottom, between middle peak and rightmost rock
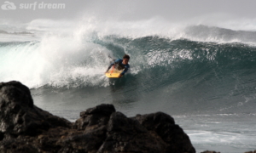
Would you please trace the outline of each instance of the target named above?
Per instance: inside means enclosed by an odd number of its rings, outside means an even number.
[[[99,152],[166,152],[166,144],[160,137],[120,112],[110,116],[107,130],[107,139]]]

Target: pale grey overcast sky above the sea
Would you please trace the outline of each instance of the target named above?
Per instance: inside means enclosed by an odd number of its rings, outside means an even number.
[[[1,0],[3,5],[5,0]],[[166,20],[226,14],[236,19],[256,18],[255,0],[9,0],[15,10],[0,9],[0,22],[30,22],[35,19],[71,20],[95,15],[105,20],[145,20],[160,16]],[[20,4],[37,2],[36,10],[21,9]],[[39,9],[39,3],[65,3],[62,9]]]

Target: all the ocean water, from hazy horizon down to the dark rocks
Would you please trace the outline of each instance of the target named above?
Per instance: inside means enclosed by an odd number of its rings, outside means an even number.
[[[102,103],[126,116],[163,111],[197,152],[255,150],[256,31],[152,23],[2,25],[0,82],[24,83],[35,105],[72,122]],[[106,78],[124,54],[131,70]]]

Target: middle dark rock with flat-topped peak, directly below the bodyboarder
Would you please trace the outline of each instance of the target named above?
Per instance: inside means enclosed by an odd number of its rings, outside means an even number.
[[[110,115],[115,112],[113,105],[97,105],[94,108],[80,112],[80,117],[73,124],[73,129],[81,133],[67,137],[61,143],[66,144],[61,152],[76,152],[86,150],[97,152],[106,139],[107,125]]]

